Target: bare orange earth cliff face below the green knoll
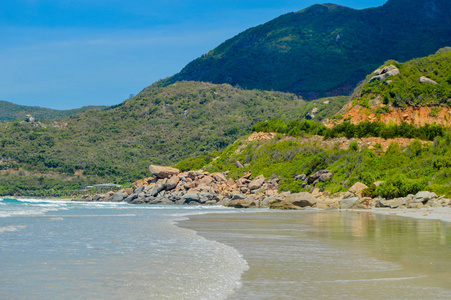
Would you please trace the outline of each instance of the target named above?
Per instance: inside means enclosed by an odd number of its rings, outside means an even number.
[[[389,113],[376,114],[375,109],[368,109],[356,105],[349,109],[338,123],[349,120],[353,124],[363,121],[384,122],[401,124],[406,122],[416,126],[426,124],[437,124],[442,126],[451,126],[451,108],[450,107],[390,107]]]

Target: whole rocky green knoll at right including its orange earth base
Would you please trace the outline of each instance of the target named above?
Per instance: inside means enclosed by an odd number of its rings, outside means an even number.
[[[342,113],[341,121],[354,124],[451,126],[451,47],[405,63],[387,61],[367,76]]]

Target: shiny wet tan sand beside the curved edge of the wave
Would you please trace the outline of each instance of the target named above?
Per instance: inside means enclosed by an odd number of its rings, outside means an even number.
[[[451,226],[368,211],[198,215],[249,264],[229,299],[450,299]]]

